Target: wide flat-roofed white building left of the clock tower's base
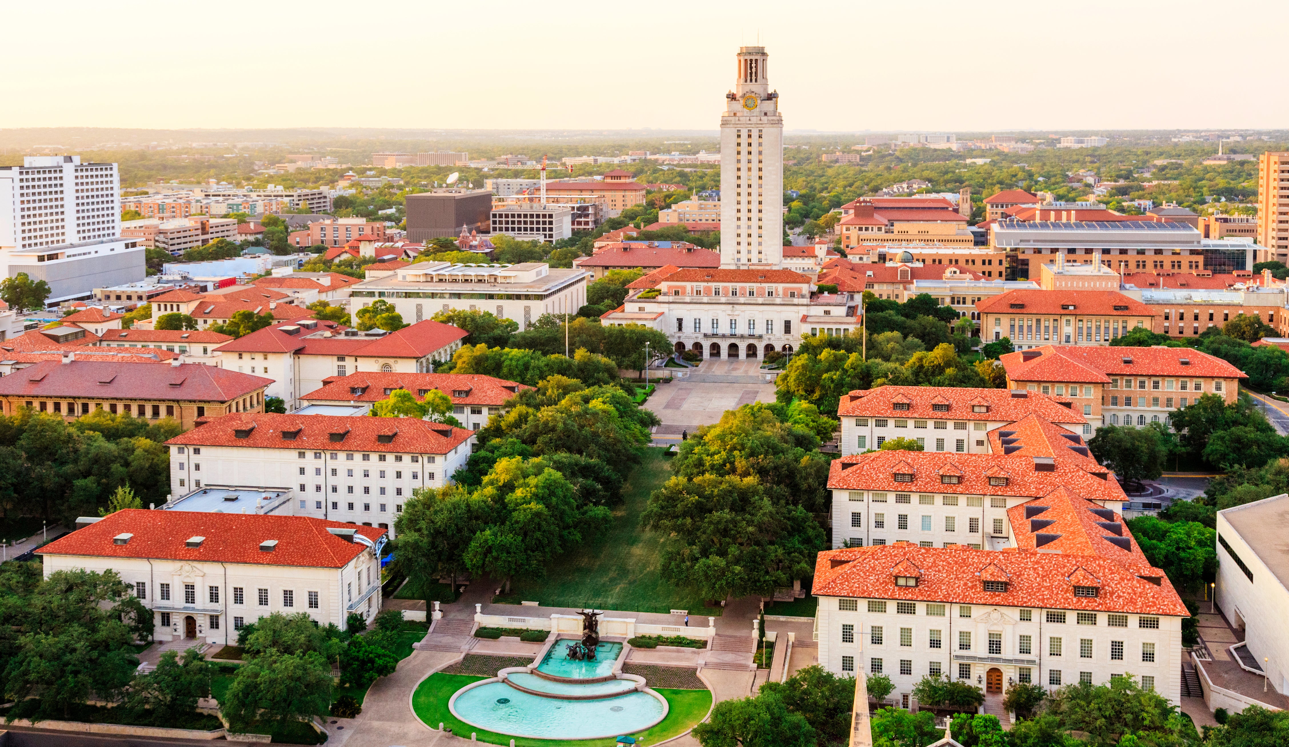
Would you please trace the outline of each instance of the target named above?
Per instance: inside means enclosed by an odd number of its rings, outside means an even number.
[[[544,261],[419,261],[353,286],[349,309],[357,312],[384,299],[405,322],[428,319],[440,310],[478,309],[514,319],[522,331],[541,314],[576,314],[586,304],[589,279],[589,272],[552,269]]]

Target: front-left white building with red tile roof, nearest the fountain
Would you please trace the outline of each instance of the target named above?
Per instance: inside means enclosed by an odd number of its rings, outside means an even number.
[[[40,549],[44,573],[115,571],[153,614],[159,641],[236,644],[275,612],[342,630],[380,612],[383,529],[308,516],[125,509]]]

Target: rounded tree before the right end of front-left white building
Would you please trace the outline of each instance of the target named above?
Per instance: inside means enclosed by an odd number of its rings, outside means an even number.
[[[219,710],[235,732],[245,732],[257,720],[307,720],[327,715],[331,688],[331,665],[322,654],[273,649],[237,670]]]

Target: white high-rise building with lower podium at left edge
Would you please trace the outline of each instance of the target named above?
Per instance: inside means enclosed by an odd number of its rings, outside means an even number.
[[[49,301],[143,279],[144,247],[121,238],[116,164],[27,156],[0,167],[0,277],[49,283]]]

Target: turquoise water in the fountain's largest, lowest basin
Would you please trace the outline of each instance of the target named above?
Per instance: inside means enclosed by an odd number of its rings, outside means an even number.
[[[647,729],[663,719],[663,703],[646,693],[598,701],[559,701],[530,695],[505,683],[489,683],[467,690],[452,707],[458,717],[480,729],[543,739],[616,737]]]

